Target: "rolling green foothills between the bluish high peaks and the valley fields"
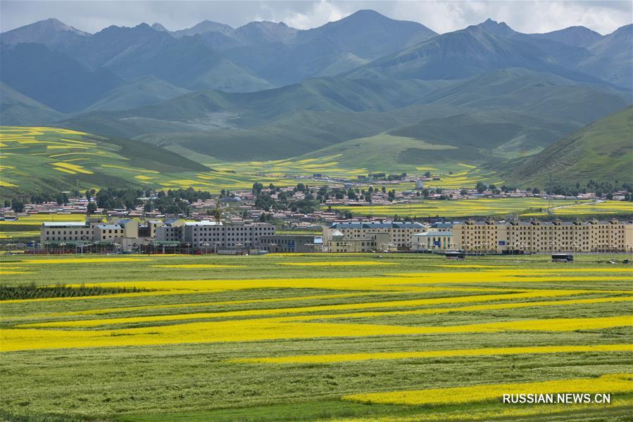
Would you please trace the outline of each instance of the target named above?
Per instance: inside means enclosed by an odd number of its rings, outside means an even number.
[[[279,160],[388,133],[459,148],[425,153],[425,160],[468,155],[482,162],[537,153],[621,110],[629,104],[624,97],[618,89],[525,69],[456,81],[327,77],[245,94],[207,89],[153,106],[77,115],[61,125],[139,139],[192,159]],[[422,155],[408,151],[401,160]]]

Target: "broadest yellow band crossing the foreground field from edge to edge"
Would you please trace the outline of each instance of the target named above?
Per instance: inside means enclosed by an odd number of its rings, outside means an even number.
[[[106,330],[68,331],[60,329],[9,328],[0,330],[0,352],[77,347],[235,343],[299,338],[358,338],[377,335],[496,333],[500,331],[565,332],[630,327],[632,325],[633,315],[600,318],[531,319],[458,326],[422,327],[242,319]]]

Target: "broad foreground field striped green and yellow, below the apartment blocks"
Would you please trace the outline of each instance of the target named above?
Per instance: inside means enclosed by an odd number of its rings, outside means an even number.
[[[0,416],[625,421],[633,273],[608,263],[624,258],[1,257],[3,286],[101,293],[0,302]],[[612,402],[500,402],[561,391]]]

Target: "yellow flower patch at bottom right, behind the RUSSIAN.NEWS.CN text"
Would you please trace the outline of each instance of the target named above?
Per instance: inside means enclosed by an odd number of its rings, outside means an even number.
[[[344,396],[344,400],[367,404],[460,404],[499,400],[504,394],[633,392],[633,373],[613,373],[599,378],[568,378],[536,383],[482,384],[468,387],[374,392]]]

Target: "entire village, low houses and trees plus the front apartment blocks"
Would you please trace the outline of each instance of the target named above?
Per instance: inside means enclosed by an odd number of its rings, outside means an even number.
[[[315,175],[318,177],[319,175]],[[415,188],[396,191],[403,181]],[[547,195],[537,189],[425,188],[427,178],[384,180],[377,186],[349,181],[331,186],[292,187],[253,184],[250,190],[223,191],[220,196],[184,190],[165,197],[143,191],[104,195],[88,191],[62,193],[55,201],[23,204],[15,212],[9,204],[0,210],[6,221],[37,215],[42,221],[39,239],[22,244],[32,253],[218,253],[230,255],[275,252],[444,252],[521,254],[534,252],[630,252],[633,223],[618,220],[585,222],[429,218],[360,217],[349,207],[398,205],[425,200],[530,198],[547,200],[601,200],[596,193],[577,196]],[[107,192],[106,192],[107,193]],[[118,196],[131,198],[118,198]],[[95,196],[97,198],[95,198]],[[188,196],[191,200],[184,200]],[[292,201],[289,201],[292,198]],[[627,191],[610,199],[625,200]],[[119,202],[127,203],[115,207]],[[97,203],[108,206],[99,207]],[[132,205],[130,205],[132,203]],[[314,206],[317,204],[318,206]],[[346,205],[346,211],[334,206]],[[162,207],[163,210],[155,209]],[[332,207],[332,208],[331,208]],[[183,211],[184,212],[180,212]],[[172,212],[165,212],[172,211]],[[67,216],[75,215],[70,218]],[[77,221],[77,215],[87,215]],[[44,217],[50,216],[50,219]],[[20,246],[13,244],[13,246]]]

